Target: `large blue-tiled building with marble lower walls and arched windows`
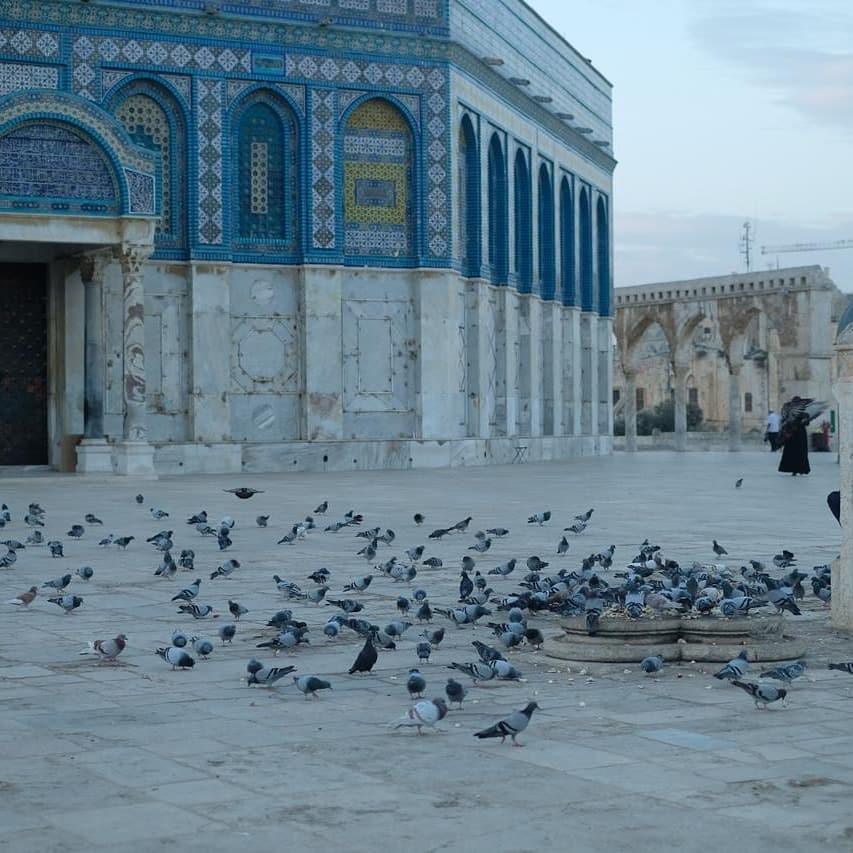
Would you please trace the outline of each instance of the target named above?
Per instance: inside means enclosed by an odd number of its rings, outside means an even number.
[[[611,134],[521,0],[0,0],[0,464],[609,452]]]

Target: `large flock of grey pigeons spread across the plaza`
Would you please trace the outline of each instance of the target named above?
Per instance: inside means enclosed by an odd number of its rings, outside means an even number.
[[[263,494],[249,487],[226,491],[240,501]],[[137,495],[136,503],[144,505],[144,496]],[[0,528],[16,531],[24,541],[10,536],[3,542],[6,554],[0,556],[0,566],[8,573],[0,577],[7,586],[12,578],[26,577],[21,584],[26,586],[24,591],[6,599],[6,606],[32,611],[46,602],[55,606],[57,617],[73,619],[76,611],[87,608],[87,589],[99,582],[97,564],[66,568],[73,560],[75,544],[96,539],[105,561],[116,549],[133,549],[137,560],[147,566],[144,573],[151,588],[162,590],[158,606],[164,614],[172,614],[179,626],[168,640],[149,649],[171,670],[192,670],[212,656],[227,653],[233,660],[239,654],[241,678],[249,687],[289,686],[306,700],[319,700],[326,691],[334,695],[342,679],[357,687],[357,680],[373,671],[380,655],[391,653],[395,661],[399,658],[396,678],[405,687],[401,698],[408,696],[413,704],[389,727],[414,728],[421,734],[435,730],[448,714],[463,711],[472,689],[502,682],[524,685],[519,652],[532,654],[541,649],[547,636],[559,632],[560,619],[578,617],[594,636],[607,620],[669,614],[744,619],[756,611],[796,618],[807,595],[818,606],[831,600],[829,567],[802,571],[795,554],[784,549],[768,561],[772,569],[756,559],[737,569],[724,564],[721,560],[728,552],[716,540],[709,546],[709,558],[711,554],[713,558],[690,565],[666,557],[649,540],[630,559],[621,561],[616,560],[615,545],[572,556],[594,527],[593,508],[573,517],[567,514],[565,526],[556,524],[556,542],[550,530],[557,513],[541,510],[529,514],[527,524],[537,530],[537,536],[551,537],[551,544],[539,554],[511,557],[507,556],[512,550],[511,528],[483,525],[484,529],[477,529],[471,516],[436,527],[424,536],[427,519],[420,512],[412,516],[405,530],[397,532],[381,524],[368,527],[368,519],[355,509],[334,517],[327,500],[286,524],[276,519],[274,507],[263,509],[265,514],[255,516],[253,524],[238,524],[230,515],[216,522],[203,509],[189,515],[186,523],[174,523],[173,512],[152,506],[147,513],[137,510],[142,514],[133,535],[127,531],[103,535],[101,517],[108,519],[108,513],[100,511],[86,513],[84,523],[72,525],[64,539],[48,539],[48,513],[40,504],[31,503],[19,519],[2,504]],[[171,529],[170,521],[174,523]],[[152,532],[154,524],[166,528]],[[261,611],[241,602],[241,578],[257,579],[265,572],[256,561],[240,559],[241,540],[254,535],[243,524],[267,537],[271,558],[280,566],[268,575],[268,601]],[[275,527],[279,532],[273,532]],[[282,529],[284,535],[280,536]],[[364,569],[356,573],[312,564],[312,540],[327,536],[344,538],[352,552],[348,565],[363,565]],[[215,541],[215,550],[206,542],[199,544],[208,539]],[[438,541],[452,542],[458,558],[449,559],[447,548],[444,558],[431,554]],[[500,561],[489,553],[498,543]],[[27,568],[32,561],[25,555],[45,546],[52,559],[62,560],[62,574],[34,578]],[[211,562],[211,554],[218,559]],[[206,565],[201,565],[201,555]],[[439,578],[445,582],[444,590],[446,581],[452,579],[458,594],[448,599],[446,591],[443,596],[431,593]],[[394,602],[396,616],[379,618],[377,611],[387,612],[390,602]],[[433,652],[441,649],[449,631],[468,632],[471,651],[467,659],[460,655],[462,659],[451,660],[439,670]],[[343,642],[346,638],[358,644],[354,659],[352,643]],[[330,648],[340,645],[336,654],[341,664],[333,671],[312,671],[312,648],[318,643]],[[133,647],[132,638],[121,632],[91,638],[82,652],[75,648],[68,654],[92,655],[105,665],[120,666],[128,646]],[[753,680],[748,677],[749,657],[749,650],[743,649],[714,677],[743,690],[758,709],[784,705],[792,683],[805,672],[806,661],[766,669]],[[660,656],[637,663],[647,676],[666,669]],[[830,663],[829,669],[853,674],[853,661]],[[535,701],[519,703],[517,710],[493,725],[470,733],[481,740],[500,738],[502,743],[510,738],[513,746],[521,746],[517,737],[538,708]]]

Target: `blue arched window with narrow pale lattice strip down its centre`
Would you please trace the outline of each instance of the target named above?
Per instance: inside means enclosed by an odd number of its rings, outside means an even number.
[[[237,148],[235,240],[259,251],[299,245],[296,122],[265,92],[250,95],[234,114]]]

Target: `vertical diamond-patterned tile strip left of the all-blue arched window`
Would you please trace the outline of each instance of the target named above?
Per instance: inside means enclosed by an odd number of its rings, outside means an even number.
[[[198,242],[221,245],[224,235],[222,187],[222,107],[225,84],[200,78],[196,86],[198,145]]]

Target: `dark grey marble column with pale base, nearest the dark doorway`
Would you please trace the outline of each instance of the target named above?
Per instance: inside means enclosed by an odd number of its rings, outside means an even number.
[[[77,473],[112,471],[112,451],[104,437],[104,272],[110,256],[84,255],[80,278],[85,293],[83,439],[77,445]]]

